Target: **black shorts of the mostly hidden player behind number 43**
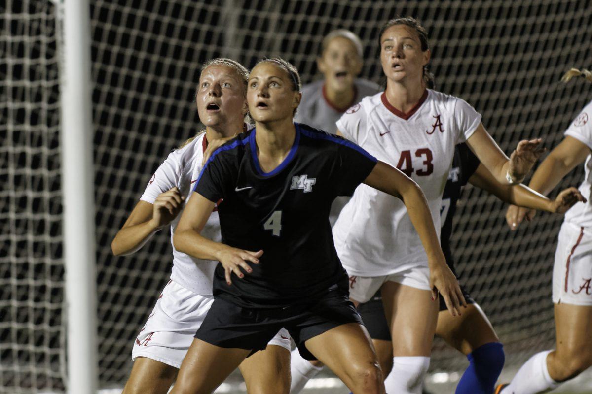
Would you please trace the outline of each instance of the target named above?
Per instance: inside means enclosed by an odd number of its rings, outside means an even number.
[[[467,304],[475,304],[474,299],[461,285],[462,295],[465,296]],[[446,302],[442,296],[439,297],[440,312],[445,311]],[[382,296],[378,291],[374,297],[368,302],[358,305],[358,312],[362,317],[362,321],[368,330],[368,334],[372,339],[379,339],[384,341],[391,340],[391,331],[388,328],[387,317],[384,314],[384,307],[382,306]]]

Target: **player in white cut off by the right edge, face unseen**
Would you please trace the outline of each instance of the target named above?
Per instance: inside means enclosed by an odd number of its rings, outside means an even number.
[[[572,69],[565,82],[582,76],[592,82],[592,72]],[[571,170],[585,161],[580,191],[590,196],[592,185],[592,102],[565,131],[565,138],[543,160],[529,186],[548,194]],[[516,229],[533,212],[511,206],[506,219]],[[573,379],[592,365],[592,207],[579,203],[565,214],[559,231],[553,268],[552,300],[555,312],[556,349],[532,356],[509,385],[500,385],[496,394],[546,393]]]

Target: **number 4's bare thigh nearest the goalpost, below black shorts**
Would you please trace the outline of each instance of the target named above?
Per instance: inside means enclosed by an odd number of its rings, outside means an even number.
[[[171,394],[210,394],[249,353],[250,350],[219,347],[195,338]]]

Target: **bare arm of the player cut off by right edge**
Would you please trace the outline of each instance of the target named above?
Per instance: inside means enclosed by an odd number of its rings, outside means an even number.
[[[529,187],[543,195],[549,194],[565,175],[584,162],[589,154],[590,148],[587,145],[576,138],[566,136],[540,163],[532,175]],[[510,229],[516,230],[525,217],[530,220],[533,216],[534,211],[512,205],[506,211],[506,222]]]

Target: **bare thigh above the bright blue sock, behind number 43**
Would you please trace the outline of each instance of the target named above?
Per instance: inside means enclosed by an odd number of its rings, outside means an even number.
[[[477,304],[469,304],[462,315],[440,311],[436,335],[465,356],[486,343],[499,342],[490,321]]]

